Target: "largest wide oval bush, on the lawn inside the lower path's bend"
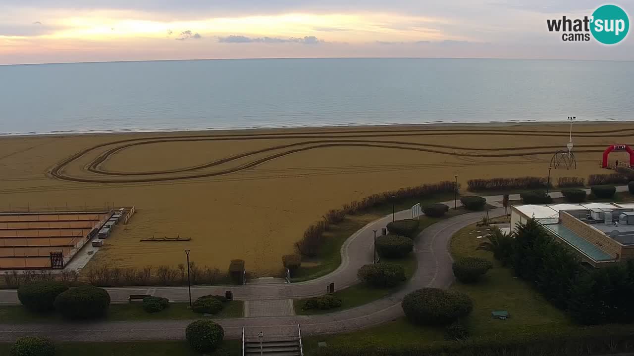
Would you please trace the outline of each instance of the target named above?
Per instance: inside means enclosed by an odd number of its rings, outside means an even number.
[[[449,325],[469,315],[473,303],[465,293],[423,288],[406,295],[401,307],[414,324]]]

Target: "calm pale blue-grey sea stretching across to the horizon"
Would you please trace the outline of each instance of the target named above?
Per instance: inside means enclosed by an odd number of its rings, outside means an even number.
[[[0,66],[0,134],[634,119],[631,61],[332,58]]]

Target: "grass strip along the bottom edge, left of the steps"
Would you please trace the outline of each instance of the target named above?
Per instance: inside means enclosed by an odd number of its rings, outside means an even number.
[[[8,355],[11,344],[0,343],[0,355]],[[241,343],[225,340],[209,356],[238,356]],[[58,343],[56,353],[63,356],[200,356],[187,341],[138,341],[116,343]]]

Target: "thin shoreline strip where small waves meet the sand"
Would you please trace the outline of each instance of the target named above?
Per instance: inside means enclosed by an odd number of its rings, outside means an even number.
[[[632,120],[593,120],[593,121],[575,121],[574,127],[578,125],[607,125],[607,124],[632,124]],[[473,129],[474,127],[526,127],[526,126],[545,126],[545,125],[568,125],[569,121],[505,121],[505,122],[429,122],[422,124],[343,124],[343,125],[326,125],[326,126],[292,126],[292,127],[243,127],[243,128],[220,128],[220,129],[166,129],[166,130],[87,130],[87,131],[64,131],[64,132],[25,132],[11,133],[0,132],[0,139],[3,137],[54,137],[54,136],[101,136],[101,135],[136,135],[136,134],[178,134],[178,133],[235,133],[240,134],[247,132],[269,131],[272,133],[293,132],[296,130],[314,130],[314,132],[327,132],[328,130],[354,130],[354,129],[401,129],[401,130],[420,130],[434,129],[438,127],[453,127]],[[484,129],[483,129],[484,130]],[[388,130],[389,131],[389,130]],[[396,130],[395,130],[396,131]]]

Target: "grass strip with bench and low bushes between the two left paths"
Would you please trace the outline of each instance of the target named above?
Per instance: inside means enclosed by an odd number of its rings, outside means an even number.
[[[189,320],[206,319],[202,314],[192,312],[188,303],[170,303],[169,308],[157,313],[148,313],[143,310],[141,303],[111,304],[106,321],[152,321],[152,320]],[[223,310],[218,314],[209,317],[210,319],[242,317],[242,300],[233,300],[224,305]],[[37,322],[58,322],[62,321],[60,314],[36,314],[29,312],[26,308],[16,305],[0,307],[0,323],[2,324],[29,324]]]

